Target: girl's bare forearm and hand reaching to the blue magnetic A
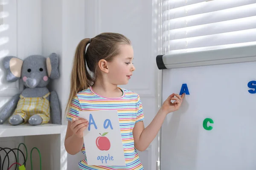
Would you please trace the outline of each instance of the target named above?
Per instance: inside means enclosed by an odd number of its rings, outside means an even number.
[[[184,95],[185,94],[182,94],[181,96],[178,94],[171,94],[163,103],[162,107],[157,112],[157,115],[154,117],[148,127],[144,128],[144,123],[142,121],[137,122],[134,125],[134,146],[137,150],[144,151],[147,149],[149,144],[151,144],[151,142],[157,136],[166,115],[173,111],[177,111],[180,108]],[[175,102],[172,103],[171,100],[175,100]]]

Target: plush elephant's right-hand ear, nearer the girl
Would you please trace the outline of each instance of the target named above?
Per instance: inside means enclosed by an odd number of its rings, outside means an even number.
[[[58,71],[59,60],[56,53],[52,53],[46,59],[47,73],[50,79],[58,79],[59,71]]]

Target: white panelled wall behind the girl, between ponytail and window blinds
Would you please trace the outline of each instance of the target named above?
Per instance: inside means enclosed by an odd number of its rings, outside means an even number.
[[[157,68],[155,57],[157,44],[157,14],[153,10],[157,1],[148,0],[86,0],[84,38],[92,38],[102,32],[118,32],[127,36],[134,48],[136,71],[128,85],[122,86],[140,94],[145,113],[145,126],[157,112]],[[81,37],[82,39],[83,37]],[[145,170],[156,168],[157,138],[140,154]],[[68,169],[77,166],[81,154],[69,156]]]

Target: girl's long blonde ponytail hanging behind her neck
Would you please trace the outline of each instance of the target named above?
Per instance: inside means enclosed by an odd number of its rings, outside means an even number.
[[[89,38],[85,38],[79,42],[76,47],[76,53],[73,61],[73,68],[71,72],[70,95],[67,102],[65,113],[68,112],[73,98],[79,91],[87,89],[93,85],[93,78],[90,76],[85,66],[85,51],[86,46],[90,43]]]

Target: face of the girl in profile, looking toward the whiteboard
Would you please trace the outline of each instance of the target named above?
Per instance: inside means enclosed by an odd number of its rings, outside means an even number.
[[[120,45],[120,53],[108,62],[108,79],[114,85],[126,85],[135,67],[132,63],[134,51],[131,45]]]

